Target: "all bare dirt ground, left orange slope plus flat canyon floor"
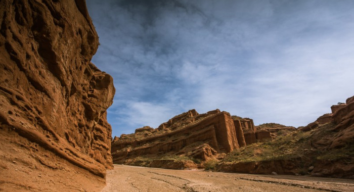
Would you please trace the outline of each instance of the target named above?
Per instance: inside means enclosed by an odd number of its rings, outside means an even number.
[[[0,129],[0,191],[354,191],[354,180],[114,165],[92,175]]]

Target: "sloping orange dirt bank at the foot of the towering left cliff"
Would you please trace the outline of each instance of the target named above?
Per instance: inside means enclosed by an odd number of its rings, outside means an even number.
[[[18,135],[0,129],[0,191],[101,191],[92,175]]]

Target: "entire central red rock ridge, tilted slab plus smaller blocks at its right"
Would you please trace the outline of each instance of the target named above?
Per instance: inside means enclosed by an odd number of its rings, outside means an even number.
[[[219,110],[198,114],[195,110],[177,115],[158,128],[136,129],[112,141],[113,162],[161,168],[193,168],[198,163],[222,159],[240,147],[273,139],[267,129],[256,130],[253,120]],[[143,158],[142,158],[143,157]],[[166,159],[166,157],[168,157]]]

